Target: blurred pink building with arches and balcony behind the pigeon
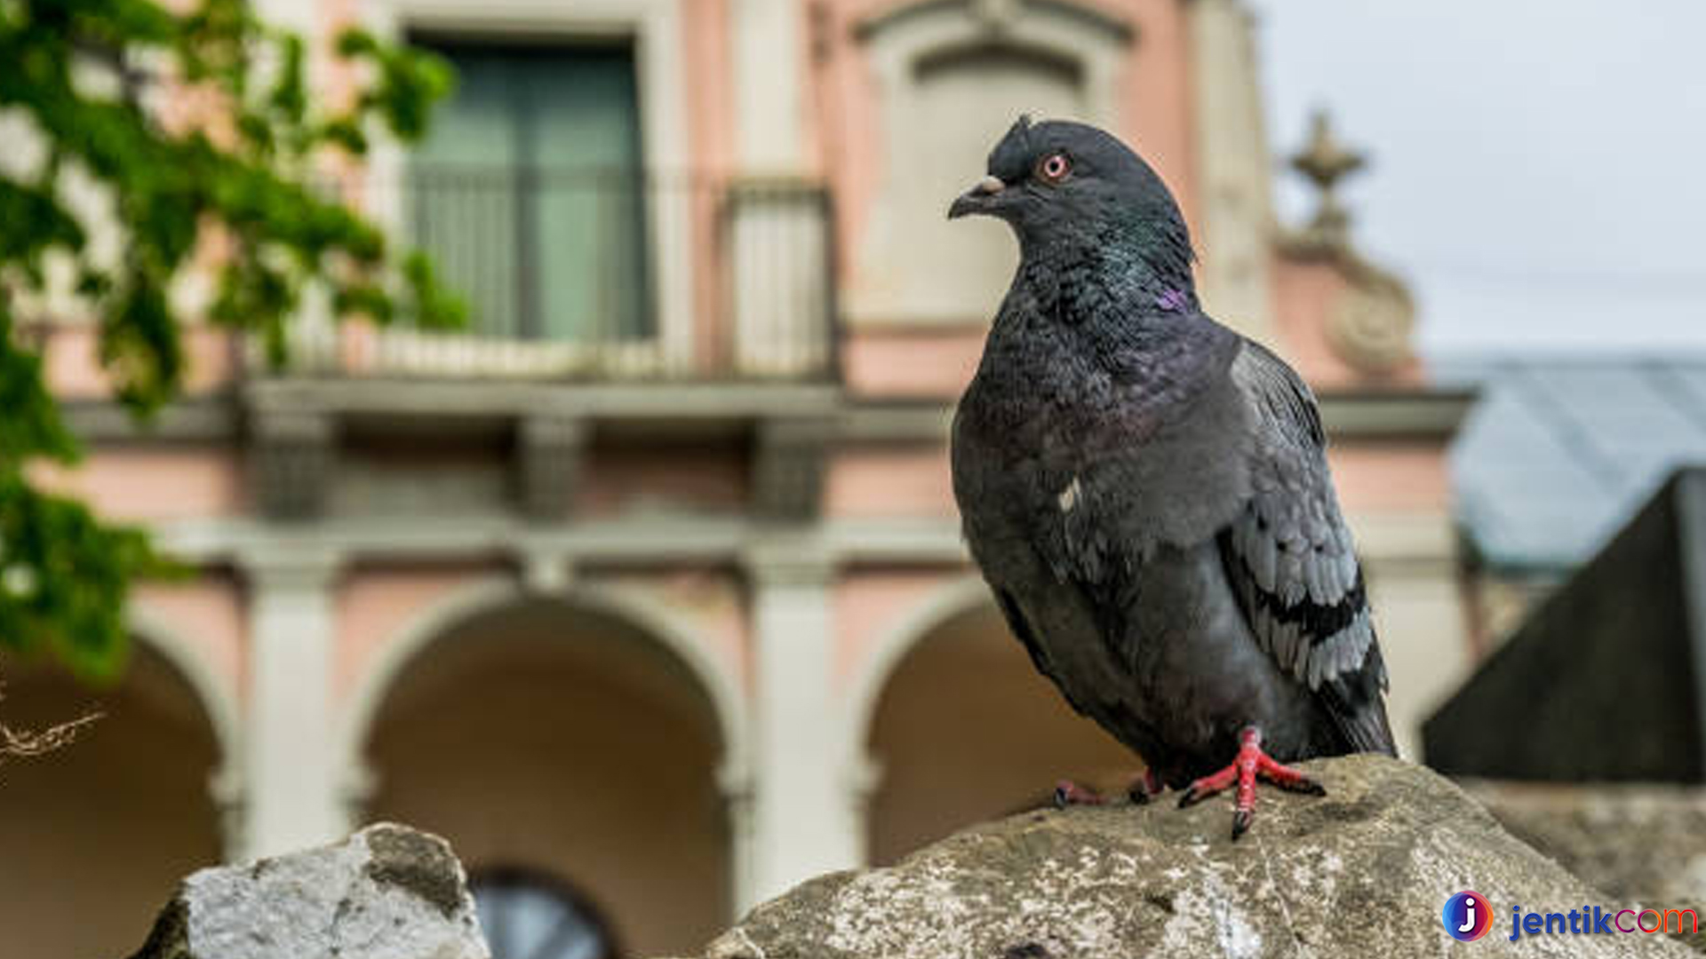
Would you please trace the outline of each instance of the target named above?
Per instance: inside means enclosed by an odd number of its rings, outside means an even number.
[[[1314,215],[1278,222],[1237,0],[261,7],[459,70],[428,142],[348,189],[438,258],[473,328],[310,312],[287,370],[194,331],[193,387],[148,430],[104,394],[90,326],[43,331],[90,440],[65,483],[194,575],[140,590],[116,688],[5,664],[19,722],[107,713],[7,770],[9,954],[121,954],[189,869],[375,819],[450,838],[503,957],[688,950],[1056,778],[1123,783],[1134,758],[1007,635],[949,488],[1015,249],[943,213],[1020,111],[1134,143],[1210,312],[1315,386],[1406,751],[1527,601],[1518,573],[1576,556],[1570,505],[1500,486],[1602,469],[1561,442],[1534,454],[1556,466],[1459,457],[1483,565],[1460,563],[1447,449],[1484,381],[1414,353],[1409,292],[1338,198],[1361,159],[1324,118],[1290,157]],[[1605,375],[1660,404],[1699,379]],[[1539,396],[1547,370],[1512,382],[1476,435],[1605,415]]]

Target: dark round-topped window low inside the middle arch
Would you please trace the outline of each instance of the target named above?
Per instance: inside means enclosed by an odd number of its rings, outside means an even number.
[[[614,959],[611,927],[585,896],[529,869],[490,869],[467,881],[491,959]]]

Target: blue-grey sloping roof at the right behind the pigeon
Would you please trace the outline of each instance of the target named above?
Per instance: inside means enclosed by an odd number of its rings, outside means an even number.
[[[1445,363],[1440,379],[1483,387],[1452,483],[1493,567],[1576,567],[1677,466],[1706,464],[1706,355]]]

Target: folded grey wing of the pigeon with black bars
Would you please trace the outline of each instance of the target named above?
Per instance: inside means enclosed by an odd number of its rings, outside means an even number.
[[[1252,411],[1250,498],[1220,536],[1220,555],[1256,642],[1307,684],[1348,744],[1394,754],[1363,572],[1327,473],[1309,386],[1245,341],[1232,377]]]

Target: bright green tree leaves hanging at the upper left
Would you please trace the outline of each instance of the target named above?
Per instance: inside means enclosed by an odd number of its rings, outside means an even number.
[[[0,650],[109,674],[126,585],[165,568],[143,531],[44,485],[78,457],[38,336],[61,304],[92,321],[140,418],[181,389],[188,323],[254,334],[281,362],[305,297],[459,321],[426,259],[328,188],[380,126],[420,137],[449,68],[360,31],[324,55],[350,80],[341,102],[310,96],[309,44],[244,0],[0,0]],[[181,305],[189,275],[212,278],[198,316]]]

